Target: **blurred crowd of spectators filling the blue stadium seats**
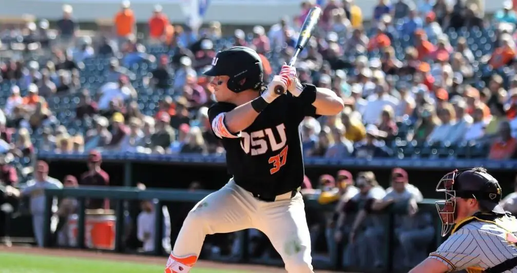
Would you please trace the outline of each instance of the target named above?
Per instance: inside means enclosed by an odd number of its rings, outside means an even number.
[[[173,25],[160,6],[137,30],[128,1],[112,28],[94,36],[80,35],[70,5],[55,29],[46,20],[4,25],[0,147],[17,150],[13,159],[22,163],[35,150],[222,154],[207,119],[214,97],[203,70],[217,51],[248,46],[271,75],[293,53],[313,5],[303,2],[299,17],[268,30],[230,36],[219,22]],[[331,88],[346,107],[304,120],[305,156],[513,158],[511,2],[487,18],[482,1],[381,0],[368,26],[352,0],[329,0],[323,10],[296,67],[302,82]]]

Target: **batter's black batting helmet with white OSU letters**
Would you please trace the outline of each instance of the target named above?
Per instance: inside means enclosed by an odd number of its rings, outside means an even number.
[[[262,83],[264,68],[256,51],[247,47],[233,47],[218,52],[212,60],[212,67],[205,71],[205,75],[229,76],[228,88],[239,93],[247,89],[257,89]]]

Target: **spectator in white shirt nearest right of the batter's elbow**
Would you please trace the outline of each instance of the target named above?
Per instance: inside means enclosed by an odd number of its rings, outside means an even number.
[[[380,72],[380,71],[379,71]],[[368,104],[362,116],[365,124],[379,124],[381,123],[381,113],[386,105],[396,109],[399,105],[399,100],[388,93],[388,86],[382,77],[377,77],[378,82],[376,91],[377,94],[368,97]]]

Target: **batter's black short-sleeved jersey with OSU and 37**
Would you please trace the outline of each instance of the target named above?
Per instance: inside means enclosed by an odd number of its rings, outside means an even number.
[[[248,128],[233,134],[224,125],[224,113],[235,107],[217,102],[208,110],[212,130],[226,149],[227,168],[235,183],[264,196],[300,187],[304,175],[300,123],[306,116],[315,116],[316,108],[288,93],[271,102]]]

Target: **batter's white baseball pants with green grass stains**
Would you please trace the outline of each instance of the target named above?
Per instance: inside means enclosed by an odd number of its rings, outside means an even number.
[[[172,255],[199,256],[207,234],[245,229],[262,231],[290,273],[313,273],[311,239],[300,193],[278,195],[275,202],[257,200],[230,180],[190,211],[179,232]]]

